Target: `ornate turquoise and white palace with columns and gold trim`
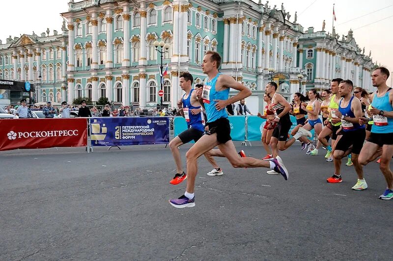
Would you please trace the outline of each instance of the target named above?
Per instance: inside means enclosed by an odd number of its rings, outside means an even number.
[[[29,81],[37,86],[38,101],[104,96],[145,108],[160,103],[162,84],[164,104],[175,107],[182,72],[192,73],[195,83],[204,81],[200,65],[207,50],[222,54],[222,73],[253,91],[248,105],[254,111],[262,108],[271,80],[288,100],[298,91],[328,88],[336,77],[373,88],[371,53],[364,54],[351,30],[342,37],[325,32],[324,24],[321,31],[305,30],[283,5],[279,10],[252,0],[71,0],[61,15],[61,34],[49,35],[48,29],[0,43],[0,79]],[[169,45],[162,82],[155,41]]]

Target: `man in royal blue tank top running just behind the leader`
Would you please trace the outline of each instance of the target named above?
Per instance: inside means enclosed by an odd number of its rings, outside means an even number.
[[[188,129],[180,133],[178,136],[173,138],[169,142],[169,148],[172,152],[173,159],[176,163],[176,174],[171,181],[172,185],[177,185],[187,178],[186,173],[183,171],[181,164],[181,157],[179,146],[194,140],[197,142],[203,135],[205,129],[205,119],[202,113],[202,107],[197,99],[196,91],[192,89],[193,76],[186,72],[180,75],[179,85],[180,88],[186,93],[177,102],[177,106],[180,109],[180,114],[186,119]],[[207,173],[209,176],[220,176],[223,175],[223,170],[217,165],[217,162],[213,157],[209,156],[208,153],[204,154],[206,159],[213,165],[214,169]]]

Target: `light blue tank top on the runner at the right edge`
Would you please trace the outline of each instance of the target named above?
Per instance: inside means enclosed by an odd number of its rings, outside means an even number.
[[[386,92],[382,97],[378,97],[378,92],[372,99],[371,106],[382,110],[384,112],[393,111],[392,104],[389,102],[389,94],[392,89]],[[374,115],[374,124],[371,127],[372,133],[393,133],[393,118],[384,117],[381,115]]]

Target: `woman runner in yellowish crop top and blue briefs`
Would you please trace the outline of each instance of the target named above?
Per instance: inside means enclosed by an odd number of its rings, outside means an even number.
[[[321,96],[315,89],[309,90],[309,103],[307,107],[302,105],[302,109],[308,113],[308,122],[304,125],[304,128],[308,131],[314,129],[315,135],[318,136],[322,131],[322,121],[319,119],[319,112],[321,110]],[[304,139],[304,138],[303,138]],[[306,141],[304,141],[306,142]],[[308,155],[318,155],[319,145],[315,147],[311,142],[307,142],[308,150],[306,154]]]

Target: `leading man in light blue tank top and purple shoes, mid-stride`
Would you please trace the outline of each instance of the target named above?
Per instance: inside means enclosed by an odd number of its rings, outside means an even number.
[[[203,57],[202,71],[207,74],[208,80],[202,88],[197,90],[197,96],[203,99],[206,109],[207,123],[203,135],[186,153],[187,158],[187,188],[184,195],[178,199],[170,199],[169,203],[175,208],[195,206],[195,178],[197,176],[197,159],[203,154],[218,146],[221,153],[229,160],[233,167],[267,167],[275,169],[284,179],[288,178],[288,171],[280,157],[271,161],[263,161],[250,157],[239,157],[230,137],[228,114],[225,107],[251,95],[251,91],[231,76],[221,74],[218,69],[221,57],[218,52],[207,51]],[[239,93],[228,99],[229,88]],[[202,104],[202,103],[201,103]],[[214,156],[214,155],[213,155]]]

